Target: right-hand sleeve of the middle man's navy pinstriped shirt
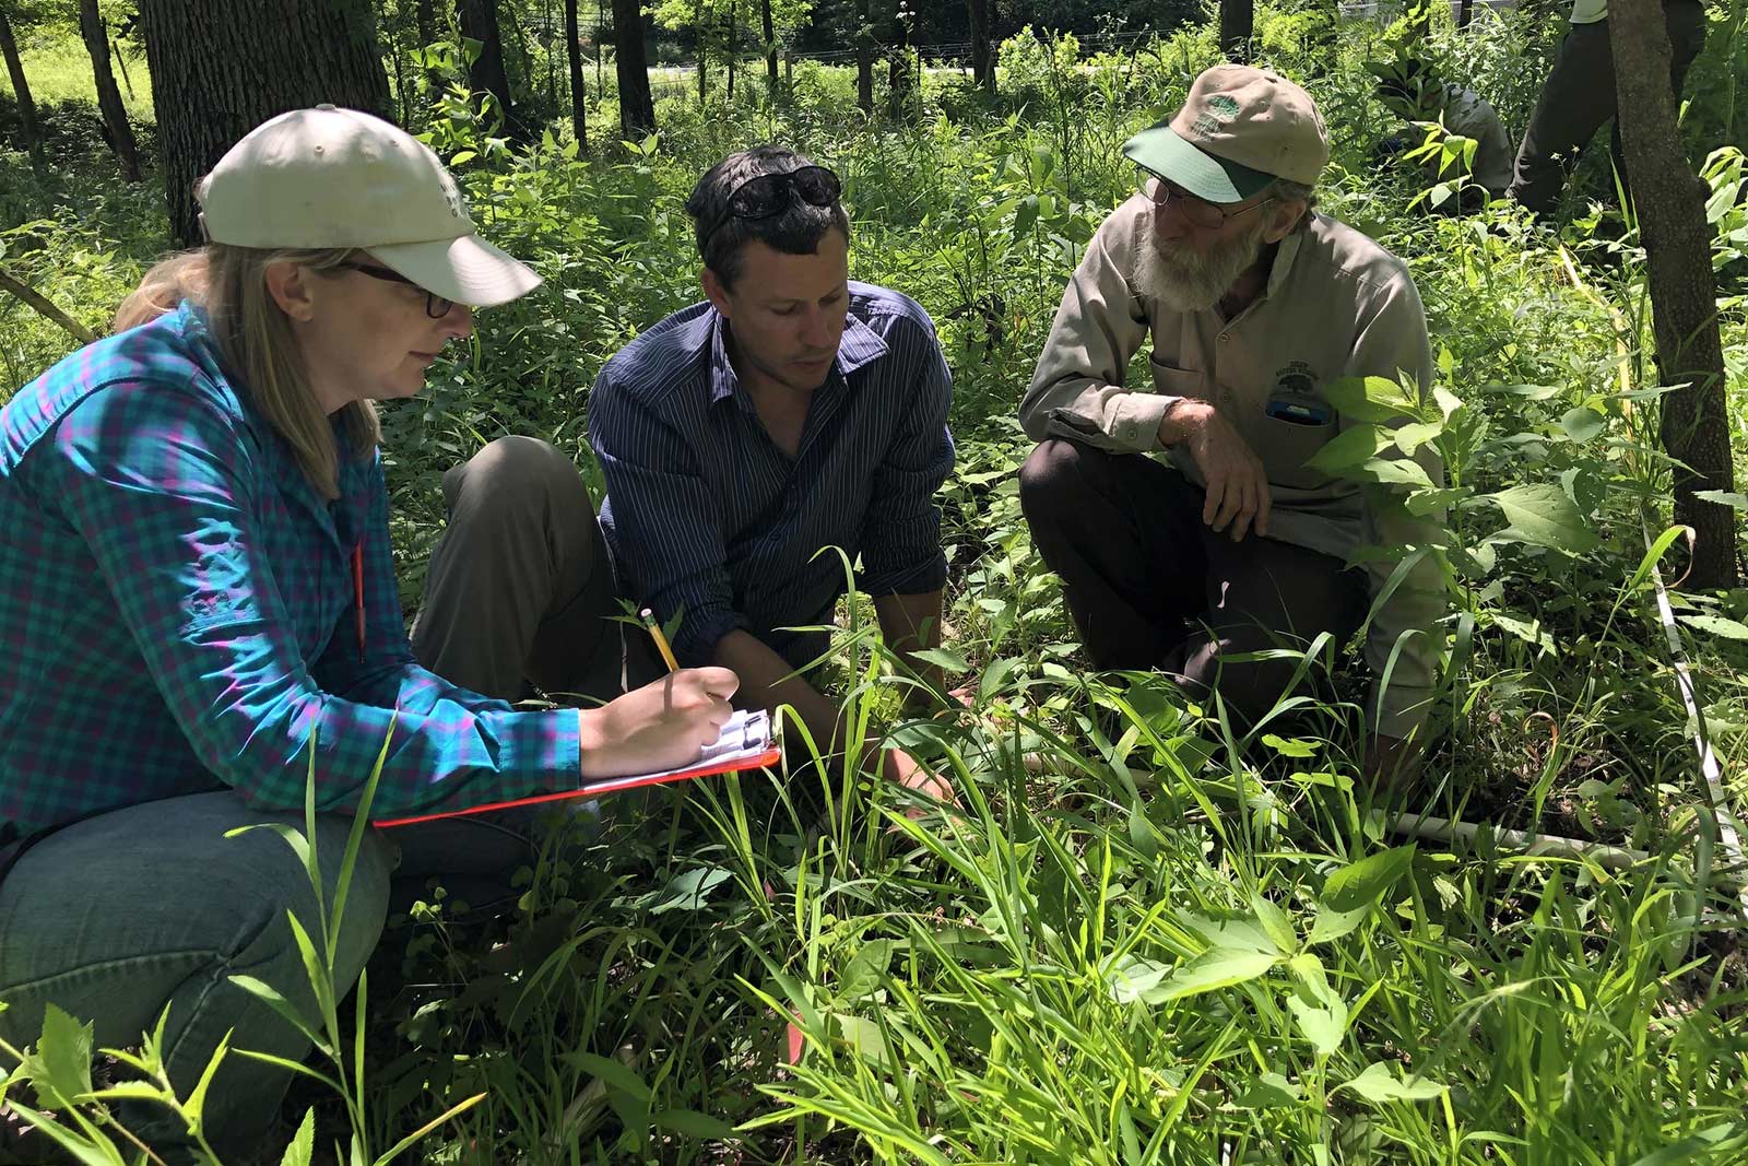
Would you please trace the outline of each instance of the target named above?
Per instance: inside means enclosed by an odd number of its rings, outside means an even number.
[[[874,489],[862,524],[862,572],[867,594],[926,594],[947,582],[940,552],[940,507],[935,491],[953,472],[953,374],[930,329],[904,323],[905,371],[911,386],[904,421],[874,470]],[[916,336],[911,330],[916,330]],[[888,336],[893,343],[898,334]]]

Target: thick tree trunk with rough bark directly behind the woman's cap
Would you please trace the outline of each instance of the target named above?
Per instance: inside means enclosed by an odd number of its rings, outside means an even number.
[[[238,138],[323,101],[390,117],[365,0],[140,0],[171,234],[201,241],[194,182]]]

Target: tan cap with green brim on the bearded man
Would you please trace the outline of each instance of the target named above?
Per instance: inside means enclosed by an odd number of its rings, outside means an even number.
[[[1241,203],[1276,178],[1314,185],[1328,131],[1311,94],[1250,65],[1215,65],[1183,108],[1129,138],[1124,157],[1210,203]]]

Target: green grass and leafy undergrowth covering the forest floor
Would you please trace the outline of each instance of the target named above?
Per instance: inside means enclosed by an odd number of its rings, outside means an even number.
[[[1274,12],[1259,30],[1281,68],[1316,77],[1335,142],[1325,208],[1409,260],[1440,383],[1463,402],[1437,439],[1474,493],[1451,516],[1451,664],[1426,778],[1397,792],[1358,778],[1351,668],[1339,699],[1248,738],[1157,677],[1089,677],[1019,516],[1014,409],[1063,280],[1129,189],[1117,147],[1211,59],[1208,30],[1133,63],[1052,72],[1038,56],[993,108],[930,89],[914,124],[862,122],[844,70],[797,68],[801,100],[776,114],[703,117],[675,98],[649,152],[589,161],[554,142],[468,168],[475,219],[547,281],[482,315],[477,350],[434,369],[423,400],[386,411],[407,598],[440,528],[442,468],[505,430],[586,460],[600,364],[696,297],[678,212],[696,173],[753,140],[799,142],[844,177],[853,274],[918,297],[954,369],[947,649],[977,701],[895,732],[954,776],[965,816],[911,825],[891,792],[853,785],[806,829],[766,778],[699,783],[540,862],[493,925],[437,893],[371,970],[369,1103],[301,1091],[292,1119],[316,1103],[325,1138],[367,1114],[364,1140],[392,1145],[484,1093],[427,1138],[437,1163],[1748,1159],[1741,920],[1729,886],[1701,878],[1706,811],[1638,572],[1640,516],[1657,533],[1668,512],[1654,406],[1620,392],[1617,357],[1631,386],[1650,376],[1643,257],[1629,234],[1606,253],[1624,231],[1610,215],[1556,233],[1409,213],[1414,191],[1369,163],[1384,121],[1360,65],[1379,31],[1323,42],[1309,16]],[[1435,49],[1526,101],[1517,80],[1556,35],[1507,17]],[[1722,93],[1717,70],[1741,65],[1715,38],[1697,91]],[[1727,122],[1722,107],[1690,119],[1696,135]],[[432,126],[446,156],[482,145],[463,119]],[[1741,458],[1748,201],[1732,164],[1708,173]],[[1573,208],[1598,191],[1580,175]],[[5,262],[100,322],[161,212],[100,180],[37,213],[0,236]],[[988,295],[998,327],[961,311]],[[0,304],[14,383],[66,348]],[[1505,531],[1488,495],[1545,484],[1566,498],[1566,533]],[[1748,593],[1678,600],[1710,617],[1683,635],[1741,799],[1748,652],[1729,621],[1748,619]],[[839,691],[879,717],[886,670],[839,638]],[[1409,846],[1374,815],[1395,809],[1647,858],[1612,871],[1486,836]],[[351,1031],[344,1014],[323,1021]]]

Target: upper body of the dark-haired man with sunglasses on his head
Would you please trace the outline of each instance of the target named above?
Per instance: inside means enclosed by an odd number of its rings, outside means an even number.
[[[706,301],[628,344],[589,399],[622,589],[680,617],[682,664],[734,670],[745,704],[794,706],[834,752],[850,745],[839,708],[797,673],[827,652],[846,559],[888,645],[939,643],[933,495],[953,468],[933,322],[848,278],[839,192],[781,147],[713,166],[687,199]],[[949,795],[900,750],[881,762]]]

